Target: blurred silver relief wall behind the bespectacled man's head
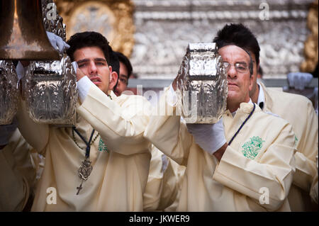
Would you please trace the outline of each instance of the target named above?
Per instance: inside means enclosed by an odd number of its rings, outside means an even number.
[[[142,79],[174,78],[188,43],[211,42],[225,23],[240,22],[257,36],[264,78],[286,78],[304,60],[312,1],[134,0],[133,71]],[[269,20],[259,18],[263,2]]]

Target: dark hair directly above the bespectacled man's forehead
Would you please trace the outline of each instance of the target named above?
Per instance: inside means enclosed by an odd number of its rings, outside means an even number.
[[[225,45],[237,45],[246,51],[254,53],[256,63],[259,64],[260,47],[257,38],[250,31],[249,28],[242,25],[242,23],[226,24],[218,31],[217,36],[213,40],[218,48]]]

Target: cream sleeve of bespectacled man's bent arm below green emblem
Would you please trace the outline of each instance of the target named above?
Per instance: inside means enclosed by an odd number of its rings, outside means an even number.
[[[276,140],[254,160],[228,146],[213,179],[252,198],[267,210],[278,210],[293,181],[295,152],[294,133],[287,123]]]

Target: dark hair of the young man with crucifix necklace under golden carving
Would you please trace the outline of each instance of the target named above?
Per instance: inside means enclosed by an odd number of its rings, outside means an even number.
[[[67,44],[69,44],[69,49],[67,49],[67,55],[74,61],[74,52],[83,47],[99,47],[104,57],[106,58],[106,62],[109,64],[109,45],[108,40],[101,35],[100,33],[94,31],[85,31],[81,33],[75,33],[74,35],[67,40]]]

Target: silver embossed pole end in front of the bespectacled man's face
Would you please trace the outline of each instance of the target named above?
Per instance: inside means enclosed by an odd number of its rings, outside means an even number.
[[[228,85],[216,43],[189,43],[177,79],[186,123],[216,123],[226,110]]]

